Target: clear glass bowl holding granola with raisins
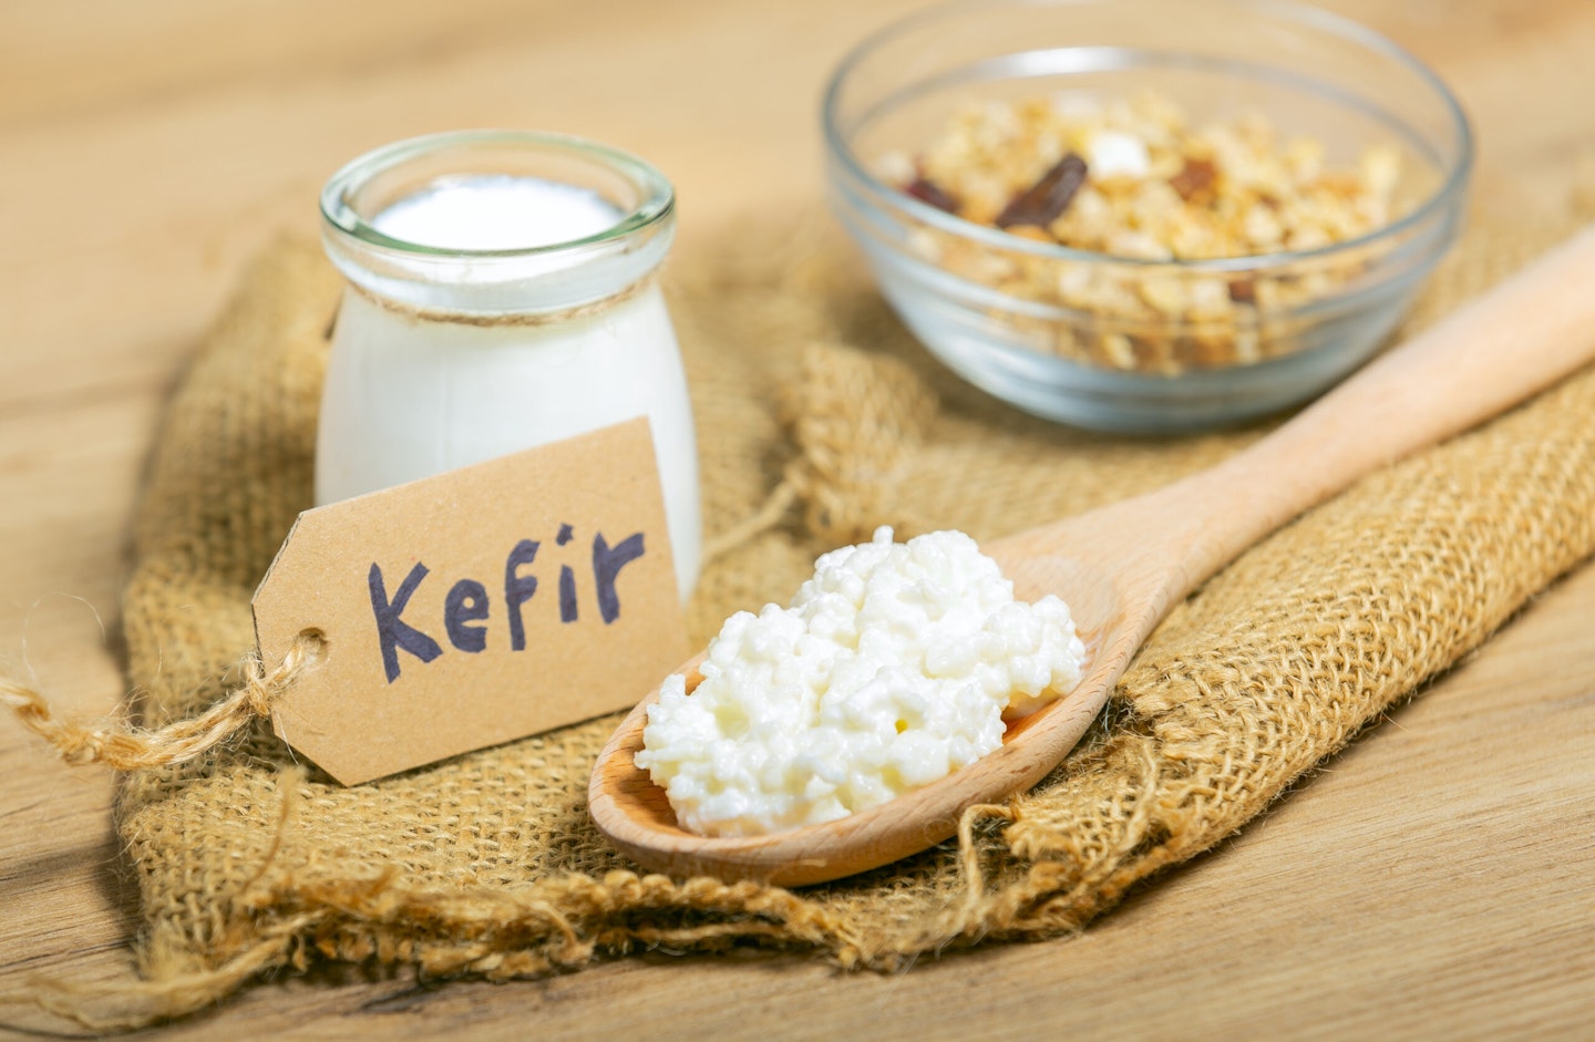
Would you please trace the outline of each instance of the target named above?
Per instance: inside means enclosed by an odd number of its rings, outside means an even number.
[[[880,172],[970,105],[1101,110],[1148,93],[1191,124],[1250,113],[1314,139],[1329,168],[1383,150],[1399,161],[1389,217],[1311,249],[1148,259],[967,220]],[[1367,361],[1456,238],[1472,164],[1467,118],[1432,72],[1356,22],[1271,0],[931,8],[845,57],[823,126],[833,209],[914,335],[1027,412],[1124,432],[1278,412]]]

